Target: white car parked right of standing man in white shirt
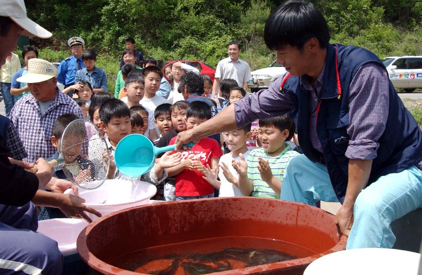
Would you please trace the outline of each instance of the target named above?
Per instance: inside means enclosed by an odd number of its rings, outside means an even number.
[[[258,92],[262,89],[268,89],[270,83],[274,82],[278,77],[286,73],[283,65],[278,65],[274,61],[269,67],[253,71],[252,80],[248,82],[251,92]]]

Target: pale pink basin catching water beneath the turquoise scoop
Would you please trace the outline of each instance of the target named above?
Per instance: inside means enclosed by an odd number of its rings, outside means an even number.
[[[94,208],[103,216],[117,210],[122,210],[148,203],[155,195],[157,188],[148,182],[135,180],[133,182],[123,179],[107,179],[97,189],[85,190],[79,188],[79,196],[85,199],[85,205]],[[74,194],[72,189],[65,194]],[[88,213],[94,221],[98,217]]]

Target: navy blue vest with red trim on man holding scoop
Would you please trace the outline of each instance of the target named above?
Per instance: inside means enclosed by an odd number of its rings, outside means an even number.
[[[288,91],[296,95],[290,114],[297,123],[299,144],[309,160],[326,163],[331,184],[341,203],[348,180],[349,159],[345,152],[350,139],[347,134],[349,85],[357,70],[368,62],[383,65],[378,57],[366,49],[339,44],[329,45],[327,48],[316,128],[324,155],[315,150],[310,142],[309,97],[300,87],[299,77],[291,76],[282,83],[282,92]],[[422,161],[421,130],[397,96],[391,81],[389,82],[387,125],[378,140],[377,157],[373,159],[368,185],[381,176],[401,172]]]

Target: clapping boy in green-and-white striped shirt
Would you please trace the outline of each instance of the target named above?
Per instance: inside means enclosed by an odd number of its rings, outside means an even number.
[[[280,198],[284,170],[290,160],[299,155],[289,150],[286,140],[292,139],[294,122],[288,115],[260,120],[258,139],[262,147],[252,150],[247,160],[232,165],[239,174],[239,189],[246,196]]]

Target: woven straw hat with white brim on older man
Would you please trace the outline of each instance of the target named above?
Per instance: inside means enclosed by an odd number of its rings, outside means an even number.
[[[32,58],[28,61],[28,73],[16,79],[19,82],[38,83],[56,77],[58,70],[44,59]]]

